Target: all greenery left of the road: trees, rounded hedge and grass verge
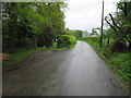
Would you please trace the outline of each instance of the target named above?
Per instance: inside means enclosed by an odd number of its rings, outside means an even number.
[[[82,30],[66,28],[62,2],[2,2],[3,65],[14,64],[36,51],[73,48]],[[76,38],[75,38],[76,37]]]

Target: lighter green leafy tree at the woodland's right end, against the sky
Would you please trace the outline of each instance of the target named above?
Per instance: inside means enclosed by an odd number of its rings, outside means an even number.
[[[44,33],[38,36],[38,46],[51,46],[53,39],[64,30],[64,14],[61,10],[64,3],[38,3],[37,7],[37,12],[45,19]]]

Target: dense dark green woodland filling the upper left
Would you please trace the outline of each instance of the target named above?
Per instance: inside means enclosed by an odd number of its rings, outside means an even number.
[[[64,30],[64,2],[2,2],[3,52],[49,47]]]

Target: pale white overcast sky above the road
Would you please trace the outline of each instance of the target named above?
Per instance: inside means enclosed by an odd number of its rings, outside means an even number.
[[[105,0],[105,16],[116,11],[116,2],[112,1],[117,2],[119,0]],[[102,0],[68,0],[66,27],[87,32],[91,32],[93,27],[100,27],[102,2]]]

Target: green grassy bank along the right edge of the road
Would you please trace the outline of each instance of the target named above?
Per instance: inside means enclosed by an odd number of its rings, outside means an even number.
[[[131,68],[131,53],[123,52],[111,52],[112,44],[103,45],[99,47],[99,37],[88,37],[79,39],[85,41],[94,48],[98,56],[107,63],[107,65],[112,70],[117,77],[119,77],[129,87],[129,82],[131,82],[131,73],[129,68]],[[129,66],[130,65],[130,66]],[[129,87],[131,89],[131,87]]]

